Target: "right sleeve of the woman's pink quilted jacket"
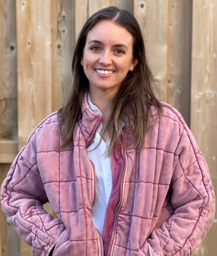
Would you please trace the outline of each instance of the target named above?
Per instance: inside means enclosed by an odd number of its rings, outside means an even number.
[[[212,225],[215,196],[208,166],[184,121],[183,126],[170,184],[174,214],[152,231],[146,255],[192,255]]]

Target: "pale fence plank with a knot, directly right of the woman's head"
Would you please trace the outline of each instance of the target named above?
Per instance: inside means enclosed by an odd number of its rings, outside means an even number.
[[[168,1],[134,0],[134,15],[142,30],[146,58],[156,85],[166,95]]]

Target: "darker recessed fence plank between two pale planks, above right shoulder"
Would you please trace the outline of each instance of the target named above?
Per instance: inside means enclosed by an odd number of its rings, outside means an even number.
[[[169,0],[165,101],[175,106],[189,125],[191,85],[192,1]]]

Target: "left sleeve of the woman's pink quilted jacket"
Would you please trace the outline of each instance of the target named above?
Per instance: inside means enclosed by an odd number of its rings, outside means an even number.
[[[14,160],[1,187],[1,202],[8,222],[33,246],[33,254],[48,256],[65,226],[43,208],[48,199],[38,170],[36,133]]]

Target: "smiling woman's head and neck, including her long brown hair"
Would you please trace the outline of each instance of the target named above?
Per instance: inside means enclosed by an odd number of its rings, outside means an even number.
[[[73,141],[81,107],[71,111],[71,106],[82,106],[86,92],[103,116],[100,135],[109,139],[107,153],[111,153],[122,134],[122,122],[131,127],[135,146],[142,147],[150,125],[150,107],[157,106],[158,116],[162,113],[152,90],[152,74],[137,20],[117,7],[103,10],[86,22],[75,46],[72,94],[66,107],[59,111],[61,147]]]

